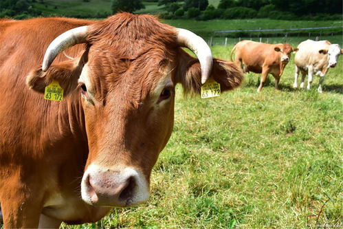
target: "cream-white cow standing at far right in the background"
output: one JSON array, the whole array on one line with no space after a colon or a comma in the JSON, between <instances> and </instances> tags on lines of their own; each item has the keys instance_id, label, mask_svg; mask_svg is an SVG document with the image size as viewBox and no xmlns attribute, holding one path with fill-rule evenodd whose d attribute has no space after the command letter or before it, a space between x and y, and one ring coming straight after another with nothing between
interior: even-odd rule
<instances>
[{"instance_id":1,"label":"cream-white cow standing at far right in the background","mask_svg":"<svg viewBox=\"0 0 343 229\"><path fill-rule=\"evenodd\" d=\"M307 89L310 89L313 80L313 74L320 76L318 92L322 93L322 83L324 76L329 71L330 67L337 65L338 57L343 54L340 45L331 44L329 41L302 41L298 45L298 52L294 57L296 63L296 73L294 74L294 85L298 87L298 76L301 72L300 87L304 87L305 77L308 74Z\"/></svg>"}]
</instances>

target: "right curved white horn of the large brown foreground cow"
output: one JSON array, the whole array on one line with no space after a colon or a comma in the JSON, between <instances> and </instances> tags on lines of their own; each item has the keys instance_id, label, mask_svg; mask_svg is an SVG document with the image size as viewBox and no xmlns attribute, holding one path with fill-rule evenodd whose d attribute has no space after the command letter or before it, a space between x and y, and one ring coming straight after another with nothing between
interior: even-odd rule
<instances>
[{"instance_id":1,"label":"right curved white horn of the large brown foreground cow","mask_svg":"<svg viewBox=\"0 0 343 229\"><path fill-rule=\"evenodd\" d=\"M188 47L197 55L201 66L201 83L206 83L210 77L213 63L212 52L206 41L189 30L177 28L177 43Z\"/></svg>"}]
</instances>

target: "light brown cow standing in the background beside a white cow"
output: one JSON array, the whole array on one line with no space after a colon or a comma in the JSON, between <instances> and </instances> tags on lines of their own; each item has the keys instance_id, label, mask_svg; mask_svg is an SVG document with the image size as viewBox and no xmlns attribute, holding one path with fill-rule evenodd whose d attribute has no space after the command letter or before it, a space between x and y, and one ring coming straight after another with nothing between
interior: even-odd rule
<instances>
[{"instance_id":1,"label":"light brown cow standing in the background beside a white cow","mask_svg":"<svg viewBox=\"0 0 343 229\"><path fill-rule=\"evenodd\" d=\"M231 61L232 53L235 52L235 63L241 66L243 72L262 73L257 91L262 90L269 73L274 76L275 88L278 89L280 77L291 58L291 52L296 50L289 44L270 45L255 41L240 41L231 51Z\"/></svg>"}]
</instances>

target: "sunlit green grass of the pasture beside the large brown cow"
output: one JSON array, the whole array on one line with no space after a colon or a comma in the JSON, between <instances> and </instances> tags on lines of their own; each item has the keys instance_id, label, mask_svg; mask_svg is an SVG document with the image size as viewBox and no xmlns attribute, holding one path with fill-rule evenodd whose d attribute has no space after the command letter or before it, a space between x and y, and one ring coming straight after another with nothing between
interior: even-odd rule
<instances>
[{"instance_id":1,"label":"sunlit green grass of the pasture beside the large brown cow","mask_svg":"<svg viewBox=\"0 0 343 229\"><path fill-rule=\"evenodd\" d=\"M231 47L213 47L225 58ZM151 175L147 204L81 228L317 228L342 226L342 70L324 93L293 89L294 64L274 89L259 74L217 98L184 98ZM311 216L312 217L309 217ZM65 226L63 228L78 228Z\"/></svg>"}]
</instances>

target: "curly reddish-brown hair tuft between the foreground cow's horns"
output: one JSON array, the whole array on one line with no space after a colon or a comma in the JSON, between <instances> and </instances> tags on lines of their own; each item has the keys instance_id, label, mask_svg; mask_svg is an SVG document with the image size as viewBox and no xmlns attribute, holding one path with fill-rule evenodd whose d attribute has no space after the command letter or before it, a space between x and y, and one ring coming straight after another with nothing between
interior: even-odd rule
<instances>
[{"instance_id":1,"label":"curly reddish-brown hair tuft between the foreground cow's horns","mask_svg":"<svg viewBox=\"0 0 343 229\"><path fill-rule=\"evenodd\" d=\"M91 25L88 40L102 47L121 45L122 50L133 52L144 43L176 47L176 36L175 29L157 17L123 12Z\"/></svg>"}]
</instances>

